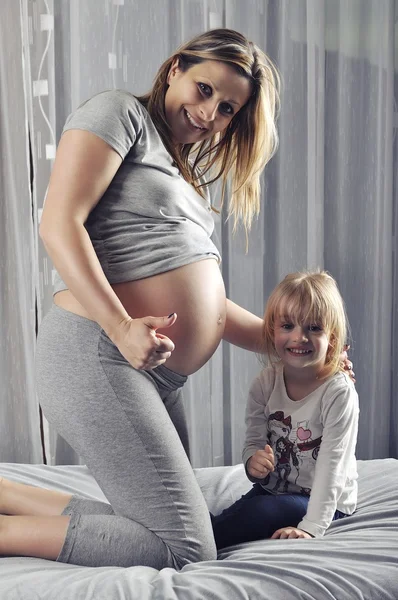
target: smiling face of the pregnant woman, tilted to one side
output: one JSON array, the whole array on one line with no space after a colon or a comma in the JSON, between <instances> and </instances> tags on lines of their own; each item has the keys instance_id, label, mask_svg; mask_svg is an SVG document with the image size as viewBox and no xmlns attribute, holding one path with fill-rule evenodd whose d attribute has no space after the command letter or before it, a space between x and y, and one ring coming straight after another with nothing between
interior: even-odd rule
<instances>
[{"instance_id":1,"label":"smiling face of the pregnant woman, tilted to one side","mask_svg":"<svg viewBox=\"0 0 398 600\"><path fill-rule=\"evenodd\" d=\"M226 63L206 60L169 71L166 119L176 144L202 142L223 131L251 94L251 83Z\"/></svg>"}]
</instances>

